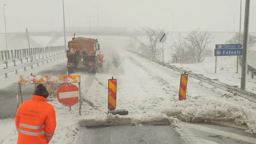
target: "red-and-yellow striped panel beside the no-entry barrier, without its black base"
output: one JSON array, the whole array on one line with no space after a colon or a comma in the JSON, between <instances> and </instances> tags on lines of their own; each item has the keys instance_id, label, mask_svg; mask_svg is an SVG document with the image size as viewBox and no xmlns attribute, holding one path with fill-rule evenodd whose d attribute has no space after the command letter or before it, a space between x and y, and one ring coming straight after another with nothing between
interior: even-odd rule
<instances>
[{"instance_id":1,"label":"red-and-yellow striped panel beside the no-entry barrier, without its black base","mask_svg":"<svg viewBox=\"0 0 256 144\"><path fill-rule=\"evenodd\" d=\"M108 80L108 109L116 109L117 100L117 79Z\"/></svg>"}]
</instances>

